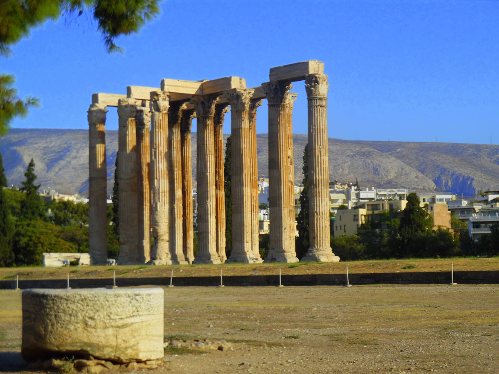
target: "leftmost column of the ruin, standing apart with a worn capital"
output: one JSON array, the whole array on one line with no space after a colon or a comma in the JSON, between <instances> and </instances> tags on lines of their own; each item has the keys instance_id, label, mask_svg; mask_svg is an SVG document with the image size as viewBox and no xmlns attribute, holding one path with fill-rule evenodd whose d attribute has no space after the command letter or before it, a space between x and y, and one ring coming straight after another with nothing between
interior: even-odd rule
<instances>
[{"instance_id":1,"label":"leftmost column of the ruin, standing apart with a worn capital","mask_svg":"<svg viewBox=\"0 0 499 374\"><path fill-rule=\"evenodd\" d=\"M107 259L107 170L105 104L91 104L88 109L88 248L92 265Z\"/></svg>"}]
</instances>

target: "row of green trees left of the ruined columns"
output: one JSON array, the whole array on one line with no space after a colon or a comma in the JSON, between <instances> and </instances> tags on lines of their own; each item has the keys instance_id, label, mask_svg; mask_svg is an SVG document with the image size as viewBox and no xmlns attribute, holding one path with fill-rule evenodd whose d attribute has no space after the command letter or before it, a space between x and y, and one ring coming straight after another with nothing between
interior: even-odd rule
<instances>
[{"instance_id":1,"label":"row of green trees left of the ruined columns","mask_svg":"<svg viewBox=\"0 0 499 374\"><path fill-rule=\"evenodd\" d=\"M88 252L88 205L44 202L34 161L19 189L7 185L0 154L0 267L41 265L43 252Z\"/></svg>"}]
</instances>

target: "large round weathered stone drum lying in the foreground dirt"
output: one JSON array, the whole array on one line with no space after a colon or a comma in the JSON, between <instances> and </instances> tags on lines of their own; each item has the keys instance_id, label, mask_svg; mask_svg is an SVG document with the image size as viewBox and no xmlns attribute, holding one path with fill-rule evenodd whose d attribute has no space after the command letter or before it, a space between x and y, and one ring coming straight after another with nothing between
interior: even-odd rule
<instances>
[{"instance_id":1,"label":"large round weathered stone drum lying in the foreground dirt","mask_svg":"<svg viewBox=\"0 0 499 374\"><path fill-rule=\"evenodd\" d=\"M22 357L91 355L118 363L162 359L163 310L161 288L25 290Z\"/></svg>"}]
</instances>

